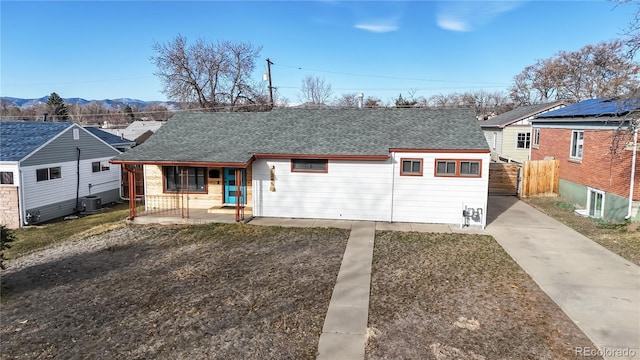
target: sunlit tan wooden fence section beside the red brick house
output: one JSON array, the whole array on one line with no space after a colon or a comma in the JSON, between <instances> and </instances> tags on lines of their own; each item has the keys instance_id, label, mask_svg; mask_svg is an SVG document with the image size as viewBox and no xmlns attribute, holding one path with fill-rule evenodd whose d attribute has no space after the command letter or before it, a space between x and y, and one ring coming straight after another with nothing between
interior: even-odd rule
<instances>
[{"instance_id":1,"label":"sunlit tan wooden fence section beside the red brick house","mask_svg":"<svg viewBox=\"0 0 640 360\"><path fill-rule=\"evenodd\" d=\"M560 182L559 169L559 160L525 161L522 164L520 196L557 194Z\"/></svg>"}]
</instances>

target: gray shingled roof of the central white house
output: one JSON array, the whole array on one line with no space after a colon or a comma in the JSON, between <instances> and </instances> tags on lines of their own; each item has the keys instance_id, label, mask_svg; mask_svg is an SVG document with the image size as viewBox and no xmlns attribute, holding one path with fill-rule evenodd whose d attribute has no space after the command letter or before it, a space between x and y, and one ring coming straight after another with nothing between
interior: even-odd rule
<instances>
[{"instance_id":1,"label":"gray shingled roof of the central white house","mask_svg":"<svg viewBox=\"0 0 640 360\"><path fill-rule=\"evenodd\" d=\"M471 109L275 109L178 113L115 161L246 163L253 154L389 155L489 150Z\"/></svg>"}]
</instances>

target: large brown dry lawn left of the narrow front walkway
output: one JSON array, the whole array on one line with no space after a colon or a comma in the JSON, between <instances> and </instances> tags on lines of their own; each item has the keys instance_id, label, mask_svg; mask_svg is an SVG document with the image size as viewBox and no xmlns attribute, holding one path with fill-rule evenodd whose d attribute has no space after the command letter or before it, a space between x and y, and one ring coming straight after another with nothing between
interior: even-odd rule
<instances>
[{"instance_id":1,"label":"large brown dry lawn left of the narrow front walkway","mask_svg":"<svg viewBox=\"0 0 640 360\"><path fill-rule=\"evenodd\" d=\"M8 262L2 359L313 359L348 230L128 226Z\"/></svg>"}]
</instances>

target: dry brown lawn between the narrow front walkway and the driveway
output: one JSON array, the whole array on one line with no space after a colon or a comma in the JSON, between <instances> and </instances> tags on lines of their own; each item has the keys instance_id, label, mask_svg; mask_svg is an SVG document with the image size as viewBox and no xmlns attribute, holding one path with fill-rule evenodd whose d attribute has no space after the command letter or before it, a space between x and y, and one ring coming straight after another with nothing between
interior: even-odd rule
<instances>
[{"instance_id":1,"label":"dry brown lawn between the narrow front walkway and the driveway","mask_svg":"<svg viewBox=\"0 0 640 360\"><path fill-rule=\"evenodd\" d=\"M490 236L378 232L368 359L571 359L593 343Z\"/></svg>"}]
</instances>

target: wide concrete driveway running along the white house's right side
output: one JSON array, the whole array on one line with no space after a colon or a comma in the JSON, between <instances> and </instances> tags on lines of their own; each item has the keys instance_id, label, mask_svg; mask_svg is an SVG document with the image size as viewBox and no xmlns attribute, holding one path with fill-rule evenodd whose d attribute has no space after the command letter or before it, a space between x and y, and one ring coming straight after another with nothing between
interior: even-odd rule
<instances>
[{"instance_id":1,"label":"wide concrete driveway running along the white house's right side","mask_svg":"<svg viewBox=\"0 0 640 360\"><path fill-rule=\"evenodd\" d=\"M605 359L640 359L640 267L513 197L490 197L487 217L487 231Z\"/></svg>"}]
</instances>

